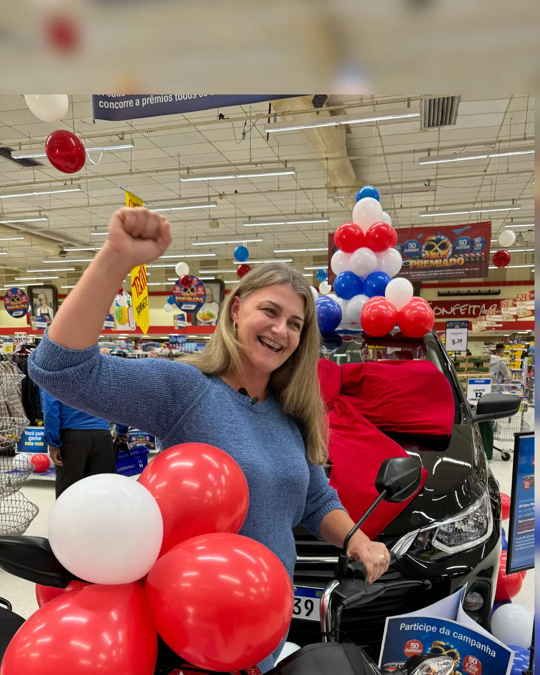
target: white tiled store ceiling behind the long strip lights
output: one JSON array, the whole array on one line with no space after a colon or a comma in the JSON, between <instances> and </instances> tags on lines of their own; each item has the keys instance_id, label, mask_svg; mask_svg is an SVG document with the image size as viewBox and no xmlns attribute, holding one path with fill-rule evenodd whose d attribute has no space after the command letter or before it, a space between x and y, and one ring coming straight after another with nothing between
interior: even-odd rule
<instances>
[{"instance_id":1,"label":"white tiled store ceiling behind the long strip lights","mask_svg":"<svg viewBox=\"0 0 540 675\"><path fill-rule=\"evenodd\" d=\"M418 109L420 96L363 97L333 96L327 105L338 109L338 114L358 111L403 109L410 105ZM59 187L65 182L81 186L81 192L51 194L26 198L0 200L0 219L5 220L47 215L47 222L27 223L28 232L50 238L70 246L99 246L103 238L90 236L91 231L103 231L112 211L124 204L127 188L140 196L148 207L173 205L185 200L216 200L213 209L169 212L173 225L173 244L169 253L215 252L215 258L199 261L190 259L194 273L201 269L232 269L234 246L191 246L196 240L226 240L259 236L263 242L248 244L252 259L277 257L275 248L300 248L325 246L327 233L351 217L347 197L354 197L356 187L340 190L336 196L327 190L328 175L323 155L313 150L302 131L265 134L268 103L227 108L219 111L227 118L217 120L217 111L200 111L187 115L170 115L136 119L127 122L96 121L92 123L89 95L74 95L66 118L57 124L41 122L26 107L22 95L0 96L0 145L18 150L43 149L47 135L55 128L75 130L84 137L86 147L120 142L132 138L135 147L121 151L90 153L86 165L79 173L59 173L46 158L43 167L25 169L0 157L0 193L14 192L22 186L45 190ZM257 115L263 115L257 117ZM315 113L313 113L313 116ZM273 117L273 113L272 113ZM277 121L284 117L277 116ZM286 117L290 119L290 117ZM273 121L273 119L271 119ZM245 124L245 126L244 126ZM246 130L242 139L242 131ZM416 188L429 184L435 192L408 192L383 194L383 209L391 215L395 227L426 224L418 214L425 209L442 210L447 207L479 207L481 205L508 205L514 200L521 210L493 213L493 233L498 235L510 216L520 223L534 221L534 155L518 155L493 159L479 159L443 165L419 165L418 157L453 154L508 146L533 144L534 98L514 95L497 99L462 96L455 126L421 130L419 121L396 124L358 124L350 126L346 134L346 150L352 161L358 184L373 184L381 191ZM32 145L29 144L32 142ZM322 161L321 161L322 159ZM216 180L182 183L179 173L187 168L197 171L212 168L223 171L231 167L254 166L263 163L275 167L284 162L296 168L295 175L260 177L251 179ZM99 162L99 163L98 163ZM264 164L266 163L266 164ZM354 200L353 200L354 201ZM350 202L349 202L350 203ZM273 227L244 227L251 219L308 219L329 217L329 224L274 225ZM434 219L437 225L465 223L489 219L489 214L479 214ZM219 229L210 229L209 219L219 221ZM431 221L431 219L429 219ZM9 236L7 226L0 236ZM526 242L533 244L533 231L522 232ZM9 283L16 269L45 267L47 254L43 248L32 244L26 232L24 241L0 242L9 255L2 257L5 269L0 280ZM15 235L16 236L16 233ZM493 236L492 239L496 237ZM498 244L492 244L495 248ZM514 248L524 248L516 244ZM532 246L531 246L532 248ZM512 249L510 249L512 250ZM525 258L525 255L527 256ZM86 258L91 254L70 254L73 258ZM53 258L49 254L49 259ZM326 254L294 254L298 269L323 263ZM514 264L532 264L531 254L516 253ZM54 267L51 265L51 267ZM76 265L75 273L61 274L59 286L73 284L86 263ZM153 269L151 281L165 280L172 269ZM493 271L491 272L493 274ZM495 280L531 279L530 268L509 268L495 271ZM219 275L234 279L234 274ZM315 281L315 277L313 277ZM165 286L161 290L165 290ZM153 290L160 290L155 288Z\"/></svg>"}]
</instances>

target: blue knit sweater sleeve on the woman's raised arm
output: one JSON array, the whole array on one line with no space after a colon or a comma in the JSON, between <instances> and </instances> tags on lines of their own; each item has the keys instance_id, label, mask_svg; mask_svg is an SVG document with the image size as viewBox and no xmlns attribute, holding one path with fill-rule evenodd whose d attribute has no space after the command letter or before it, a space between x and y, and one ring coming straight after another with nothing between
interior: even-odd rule
<instances>
[{"instance_id":1,"label":"blue knit sweater sleeve on the woman's raised arm","mask_svg":"<svg viewBox=\"0 0 540 675\"><path fill-rule=\"evenodd\" d=\"M163 438L209 387L197 368L165 359L128 359L62 347L47 333L28 358L42 389L96 417Z\"/></svg>"}]
</instances>

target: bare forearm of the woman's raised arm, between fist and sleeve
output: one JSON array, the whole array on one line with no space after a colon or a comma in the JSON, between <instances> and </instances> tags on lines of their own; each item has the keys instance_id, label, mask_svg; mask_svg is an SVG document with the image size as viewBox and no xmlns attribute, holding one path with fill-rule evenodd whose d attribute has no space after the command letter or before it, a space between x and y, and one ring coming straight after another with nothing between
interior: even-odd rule
<instances>
[{"instance_id":1,"label":"bare forearm of the woman's raised arm, between fist and sleeve","mask_svg":"<svg viewBox=\"0 0 540 675\"><path fill-rule=\"evenodd\" d=\"M86 349L96 344L103 321L124 281L126 261L105 246L78 284L62 302L51 327L49 338L68 349Z\"/></svg>"}]
</instances>

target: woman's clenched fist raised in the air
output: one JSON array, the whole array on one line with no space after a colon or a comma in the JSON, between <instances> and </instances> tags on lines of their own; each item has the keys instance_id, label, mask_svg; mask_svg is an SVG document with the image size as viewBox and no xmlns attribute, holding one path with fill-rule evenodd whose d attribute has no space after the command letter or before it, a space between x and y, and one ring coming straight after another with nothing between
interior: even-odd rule
<instances>
[{"instance_id":1,"label":"woman's clenched fist raised in the air","mask_svg":"<svg viewBox=\"0 0 540 675\"><path fill-rule=\"evenodd\" d=\"M164 216L148 209L125 207L113 213L104 248L119 254L132 269L159 258L170 243L171 225Z\"/></svg>"}]
</instances>

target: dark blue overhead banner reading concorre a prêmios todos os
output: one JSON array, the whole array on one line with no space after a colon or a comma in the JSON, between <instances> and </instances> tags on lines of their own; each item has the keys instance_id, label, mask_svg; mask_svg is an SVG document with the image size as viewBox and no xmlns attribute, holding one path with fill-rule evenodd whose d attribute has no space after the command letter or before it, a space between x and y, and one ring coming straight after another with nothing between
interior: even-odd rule
<instances>
[{"instance_id":1,"label":"dark blue overhead banner reading concorre a pr\u00eamios todos os","mask_svg":"<svg viewBox=\"0 0 540 675\"><path fill-rule=\"evenodd\" d=\"M275 99L289 99L298 94L92 94L95 119L121 121L142 117L162 117L192 113L197 110L249 105Z\"/></svg>"}]
</instances>

